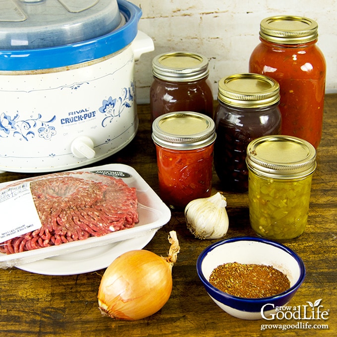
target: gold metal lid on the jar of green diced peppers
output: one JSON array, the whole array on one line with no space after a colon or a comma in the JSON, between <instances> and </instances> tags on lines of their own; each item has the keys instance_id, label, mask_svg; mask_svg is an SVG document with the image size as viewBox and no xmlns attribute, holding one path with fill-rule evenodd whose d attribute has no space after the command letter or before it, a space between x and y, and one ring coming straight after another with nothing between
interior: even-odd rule
<instances>
[{"instance_id":1,"label":"gold metal lid on the jar of green diced peppers","mask_svg":"<svg viewBox=\"0 0 337 337\"><path fill-rule=\"evenodd\" d=\"M276 179L304 178L316 169L316 150L309 142L292 136L264 136L247 147L248 169Z\"/></svg>"}]
</instances>

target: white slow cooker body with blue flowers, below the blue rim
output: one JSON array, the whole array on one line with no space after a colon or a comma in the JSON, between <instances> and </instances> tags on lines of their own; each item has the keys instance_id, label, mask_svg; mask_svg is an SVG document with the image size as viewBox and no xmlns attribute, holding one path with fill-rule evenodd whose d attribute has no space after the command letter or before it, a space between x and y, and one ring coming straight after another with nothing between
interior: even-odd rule
<instances>
[{"instance_id":1,"label":"white slow cooker body with blue flowers, below the blue rim","mask_svg":"<svg viewBox=\"0 0 337 337\"><path fill-rule=\"evenodd\" d=\"M130 46L99 62L52 70L1 72L1 170L73 169L116 153L134 138L138 117ZM94 152L85 157L85 149L83 155L73 151L75 156L71 145L83 137L92 141Z\"/></svg>"}]
</instances>

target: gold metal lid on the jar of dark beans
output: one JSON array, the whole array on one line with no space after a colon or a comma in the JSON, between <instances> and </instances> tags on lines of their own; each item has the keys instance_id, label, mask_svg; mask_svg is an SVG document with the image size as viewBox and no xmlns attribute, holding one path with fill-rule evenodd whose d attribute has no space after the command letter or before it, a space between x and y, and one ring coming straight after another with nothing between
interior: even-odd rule
<instances>
[{"instance_id":1,"label":"gold metal lid on the jar of dark beans","mask_svg":"<svg viewBox=\"0 0 337 337\"><path fill-rule=\"evenodd\" d=\"M218 84L218 99L240 108L267 107L280 101L280 85L273 78L254 73L224 77Z\"/></svg>"}]
</instances>

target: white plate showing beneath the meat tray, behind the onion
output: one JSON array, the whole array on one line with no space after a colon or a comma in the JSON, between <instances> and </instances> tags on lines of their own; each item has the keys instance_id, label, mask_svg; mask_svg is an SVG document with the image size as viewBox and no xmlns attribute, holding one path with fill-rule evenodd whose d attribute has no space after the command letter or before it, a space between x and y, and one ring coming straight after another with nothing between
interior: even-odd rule
<instances>
[{"instance_id":1,"label":"white plate showing beneath the meat tray, behind the onion","mask_svg":"<svg viewBox=\"0 0 337 337\"><path fill-rule=\"evenodd\" d=\"M107 268L119 255L133 249L144 248L154 237L156 230L140 237L107 244L102 247L81 250L72 255L59 255L44 260L16 266L26 272L42 275L76 275Z\"/></svg>"}]
</instances>

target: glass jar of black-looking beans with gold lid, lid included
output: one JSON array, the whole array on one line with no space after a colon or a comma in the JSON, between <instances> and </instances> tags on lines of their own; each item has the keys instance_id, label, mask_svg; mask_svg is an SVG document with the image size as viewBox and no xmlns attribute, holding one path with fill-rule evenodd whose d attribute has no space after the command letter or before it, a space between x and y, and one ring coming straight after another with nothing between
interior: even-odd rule
<instances>
[{"instance_id":1,"label":"glass jar of black-looking beans with gold lid, lid included","mask_svg":"<svg viewBox=\"0 0 337 337\"><path fill-rule=\"evenodd\" d=\"M215 170L225 189L246 192L247 145L255 138L280 133L280 86L260 74L231 75L219 81L218 101Z\"/></svg>"}]
</instances>

